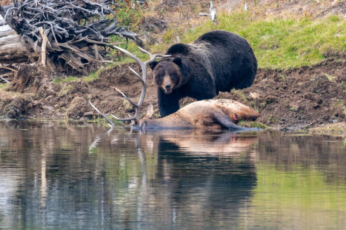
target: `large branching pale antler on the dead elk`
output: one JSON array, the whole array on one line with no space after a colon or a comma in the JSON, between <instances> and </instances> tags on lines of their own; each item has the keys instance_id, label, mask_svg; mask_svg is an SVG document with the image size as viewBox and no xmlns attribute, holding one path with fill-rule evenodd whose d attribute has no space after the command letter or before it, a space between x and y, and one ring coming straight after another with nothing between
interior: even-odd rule
<instances>
[{"instance_id":1,"label":"large branching pale antler on the dead elk","mask_svg":"<svg viewBox=\"0 0 346 230\"><path fill-rule=\"evenodd\" d=\"M124 93L121 92L121 90L119 90L117 87L114 87L114 89L117 90L117 92L119 92L121 95L123 95L123 97L125 97L125 99L127 99L133 105L133 107L135 107L136 112L135 112L134 116L130 116L130 117L125 118L125 119L119 119L119 118L117 118L117 116L114 116L114 115L112 115L112 116L119 121L133 121L133 120L141 118L141 107L142 107L142 104L143 104L144 99L145 99L145 93L147 91L147 66L148 66L148 63L155 61L155 59L157 59L158 57L166 57L166 56L170 56L170 55L150 54L150 52L146 51L145 49L138 47L139 49L141 49L142 52L144 52L145 54L148 54L150 56L150 59L148 61L142 61L141 59L138 59L137 56L134 56L133 54L128 52L126 49L122 49L121 47L117 47L117 46L113 46L113 47L115 49L119 49L121 52L124 52L124 54L126 54L127 56L130 56L132 59L137 61L139 63L139 65L141 66L141 69L142 69L142 76L141 76L129 66L130 70L133 73L135 73L135 75L138 77L138 79L142 83L142 92L141 92L141 97L139 98L138 104L134 103L131 99L129 99L129 97L126 97L126 95L124 95ZM90 104L91 104L91 102L90 102ZM91 104L91 105L94 107L94 109L96 109L96 107L93 104ZM102 114L98 109L96 109L96 111L99 112L102 116L104 116L107 119L107 121L110 123L109 125L112 126L112 128L114 128L114 123L112 123L112 121L110 121L107 118L107 116L105 116L105 114Z\"/></svg>"}]
</instances>

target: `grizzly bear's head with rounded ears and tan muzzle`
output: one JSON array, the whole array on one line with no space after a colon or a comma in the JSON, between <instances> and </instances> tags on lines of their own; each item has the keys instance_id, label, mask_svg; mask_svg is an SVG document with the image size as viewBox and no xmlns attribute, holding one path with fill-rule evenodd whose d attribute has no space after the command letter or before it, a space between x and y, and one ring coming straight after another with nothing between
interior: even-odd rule
<instances>
[{"instance_id":1,"label":"grizzly bear's head with rounded ears and tan muzzle","mask_svg":"<svg viewBox=\"0 0 346 230\"><path fill-rule=\"evenodd\" d=\"M153 78L158 87L169 95L181 85L181 57L162 59L149 64L153 69Z\"/></svg>"}]
</instances>

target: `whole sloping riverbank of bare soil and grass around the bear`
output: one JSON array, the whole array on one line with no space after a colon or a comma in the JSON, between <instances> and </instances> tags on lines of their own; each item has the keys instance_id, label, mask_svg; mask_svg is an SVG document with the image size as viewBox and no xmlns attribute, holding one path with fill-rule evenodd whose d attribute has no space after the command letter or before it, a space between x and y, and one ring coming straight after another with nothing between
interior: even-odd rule
<instances>
[{"instance_id":1,"label":"whole sloping riverbank of bare soil and grass around the bear","mask_svg":"<svg viewBox=\"0 0 346 230\"><path fill-rule=\"evenodd\" d=\"M309 6L314 9L314 1L311 2ZM196 16L206 5L196 5L197 8L186 11L186 15L174 18L177 9L191 3L183 1L183 5L177 6L167 3L162 6L152 3L143 13L141 31L150 52L162 54L177 39L191 42L213 29L236 32L249 41L260 68L251 87L222 92L218 98L236 99L253 107L260 113L258 122L272 129L316 130L335 126L338 131L346 131L346 23L342 16L304 13L309 11L282 16L292 5L281 10L271 5L258 6L244 13L239 4L232 13L220 13L217 22L211 23ZM339 5L333 5L334 9ZM160 13L162 8L165 15ZM161 20L153 20L155 17ZM188 19L173 30L179 17ZM150 43L148 36L155 42ZM134 44L129 44L129 50L142 59L147 58ZM7 119L95 119L97 113L88 104L90 100L105 114L127 116L134 109L114 87L131 99L138 99L141 83L128 66L138 70L136 63L126 57L83 78L56 77L42 69L26 70L28 79L24 87L18 87L16 79L11 85L0 84L0 115ZM192 101L183 99L181 106ZM155 116L160 117L152 79L148 80L143 107L148 104L154 105Z\"/></svg>"}]
</instances>

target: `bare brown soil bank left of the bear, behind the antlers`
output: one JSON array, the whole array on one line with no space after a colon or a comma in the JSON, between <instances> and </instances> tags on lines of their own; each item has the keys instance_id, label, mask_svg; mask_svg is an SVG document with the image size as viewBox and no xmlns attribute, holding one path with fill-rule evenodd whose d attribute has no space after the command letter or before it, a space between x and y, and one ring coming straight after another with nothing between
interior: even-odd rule
<instances>
[{"instance_id":1,"label":"bare brown soil bank left of the bear, behind the antlers","mask_svg":"<svg viewBox=\"0 0 346 230\"><path fill-rule=\"evenodd\" d=\"M117 66L104 71L100 79L86 83L83 80L72 81L67 83L54 84L52 80L43 78L44 83L36 90L37 106L29 109L18 116L23 118L37 119L88 119L97 115L88 100L93 102L95 106L105 114L114 114L116 116L127 116L134 109L131 104L124 100L124 97L114 90L114 86L121 89L128 97L137 101L141 95L141 83L135 75L131 73L129 64ZM130 64L136 71L138 66L135 63ZM156 105L156 87L148 80L147 97L144 107L149 103L155 102ZM11 90L11 88L10 88ZM32 87L28 87L26 92L31 92ZM11 92L8 92L10 94ZM4 100L3 100L4 101ZM8 104L10 101L3 102ZM145 109L143 109L145 111ZM1 115L7 118L9 116L6 111L0 111Z\"/></svg>"}]
</instances>

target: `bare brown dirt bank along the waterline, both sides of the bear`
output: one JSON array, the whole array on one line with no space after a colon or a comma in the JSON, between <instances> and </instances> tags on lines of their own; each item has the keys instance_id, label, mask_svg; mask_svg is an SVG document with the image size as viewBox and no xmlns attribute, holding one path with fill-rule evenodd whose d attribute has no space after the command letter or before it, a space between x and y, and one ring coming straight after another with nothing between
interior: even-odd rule
<instances>
[{"instance_id":1,"label":"bare brown dirt bank along the waterline, both sides of the bear","mask_svg":"<svg viewBox=\"0 0 346 230\"><path fill-rule=\"evenodd\" d=\"M90 100L105 114L127 116L134 110L114 90L114 86L134 101L141 94L141 83L127 66L104 71L99 79L89 83L77 80L54 84L45 78L35 93L32 87L27 87L23 95L0 90L1 115L28 119L93 119L97 113L88 104ZM131 67L138 71L135 63ZM346 61L340 60L287 71L260 69L251 87L221 92L218 98L236 99L257 109L260 113L258 121L270 128L316 128L346 121L345 72ZM181 106L192 101L183 99ZM144 108L150 103L154 105L155 116L158 117L156 87L151 78L148 79Z\"/></svg>"}]
</instances>

